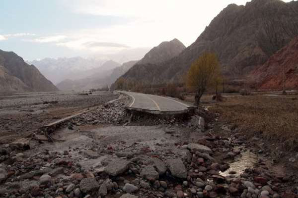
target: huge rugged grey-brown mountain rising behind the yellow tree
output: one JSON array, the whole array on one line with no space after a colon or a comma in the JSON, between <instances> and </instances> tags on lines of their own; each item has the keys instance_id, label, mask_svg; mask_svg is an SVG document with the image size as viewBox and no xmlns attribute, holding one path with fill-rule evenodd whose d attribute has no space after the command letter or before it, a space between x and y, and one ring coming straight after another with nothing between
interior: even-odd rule
<instances>
[{"instance_id":1,"label":"huge rugged grey-brown mountain rising behind the yellow tree","mask_svg":"<svg viewBox=\"0 0 298 198\"><path fill-rule=\"evenodd\" d=\"M224 76L239 78L264 64L298 35L298 1L252 0L230 4L198 39L179 55L159 63L136 64L123 78L159 84L182 81L191 63L203 52L217 53Z\"/></svg>"}]
</instances>

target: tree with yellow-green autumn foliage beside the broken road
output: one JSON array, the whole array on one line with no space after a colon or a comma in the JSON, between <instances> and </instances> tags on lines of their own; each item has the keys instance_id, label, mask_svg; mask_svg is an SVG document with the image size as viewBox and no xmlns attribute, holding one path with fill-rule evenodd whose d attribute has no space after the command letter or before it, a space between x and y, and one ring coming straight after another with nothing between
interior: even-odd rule
<instances>
[{"instance_id":1,"label":"tree with yellow-green autumn foliage beside the broken road","mask_svg":"<svg viewBox=\"0 0 298 198\"><path fill-rule=\"evenodd\" d=\"M199 105L207 86L218 86L220 79L220 63L215 53L205 52L191 64L187 73L186 85L196 92L196 105Z\"/></svg>"}]
</instances>

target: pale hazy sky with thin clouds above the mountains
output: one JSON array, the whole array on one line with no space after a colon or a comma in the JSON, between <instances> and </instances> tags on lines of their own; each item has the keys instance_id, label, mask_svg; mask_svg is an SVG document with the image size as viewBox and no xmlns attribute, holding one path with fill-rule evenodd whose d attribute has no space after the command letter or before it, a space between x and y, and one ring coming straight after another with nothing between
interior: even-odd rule
<instances>
[{"instance_id":1,"label":"pale hazy sky with thin clouds above the mountains","mask_svg":"<svg viewBox=\"0 0 298 198\"><path fill-rule=\"evenodd\" d=\"M192 44L230 3L247 0L1 0L0 49L24 59ZM291 1L291 0L284 0Z\"/></svg>"}]
</instances>

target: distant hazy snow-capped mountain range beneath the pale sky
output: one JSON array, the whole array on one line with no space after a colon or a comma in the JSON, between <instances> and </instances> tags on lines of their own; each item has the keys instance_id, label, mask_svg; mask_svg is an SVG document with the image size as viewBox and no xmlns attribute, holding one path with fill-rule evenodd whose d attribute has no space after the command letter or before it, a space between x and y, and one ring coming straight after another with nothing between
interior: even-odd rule
<instances>
[{"instance_id":1,"label":"distant hazy snow-capped mountain range beneath the pale sky","mask_svg":"<svg viewBox=\"0 0 298 198\"><path fill-rule=\"evenodd\" d=\"M107 61L98 58L61 57L44 58L28 62L34 64L53 83L59 83L65 79L80 79L93 74L92 69L99 68Z\"/></svg>"}]
</instances>

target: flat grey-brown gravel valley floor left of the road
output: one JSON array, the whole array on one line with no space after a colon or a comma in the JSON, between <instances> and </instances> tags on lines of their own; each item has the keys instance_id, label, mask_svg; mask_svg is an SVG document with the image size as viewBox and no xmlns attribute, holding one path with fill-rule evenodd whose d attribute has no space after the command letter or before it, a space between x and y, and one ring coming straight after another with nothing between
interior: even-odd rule
<instances>
[{"instance_id":1,"label":"flat grey-brown gravel valley floor left of the road","mask_svg":"<svg viewBox=\"0 0 298 198\"><path fill-rule=\"evenodd\" d=\"M0 144L26 137L43 125L116 98L109 92L0 94Z\"/></svg>"}]
</instances>

